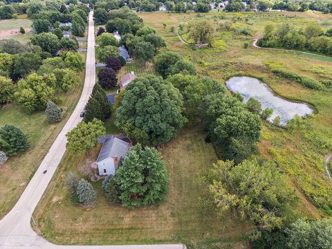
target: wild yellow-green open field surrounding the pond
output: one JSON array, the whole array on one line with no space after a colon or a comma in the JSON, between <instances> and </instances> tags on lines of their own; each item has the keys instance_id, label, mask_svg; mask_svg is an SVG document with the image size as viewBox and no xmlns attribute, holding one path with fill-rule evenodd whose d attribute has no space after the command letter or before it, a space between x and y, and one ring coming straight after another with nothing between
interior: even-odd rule
<instances>
[{"instance_id":1,"label":"wild yellow-green open field surrounding the pond","mask_svg":"<svg viewBox=\"0 0 332 249\"><path fill-rule=\"evenodd\" d=\"M280 67L300 75L323 80L331 78L331 60L320 55L308 55L300 52L270 51L253 46L245 49L243 42L251 43L250 36L239 35L233 30L220 31L214 35L215 39L221 37L226 46L225 50L218 47L196 49L193 46L180 43L176 33L172 33L169 27L205 18L211 19L215 27L220 26L225 21L230 21L233 28L248 28L252 30L253 37L259 37L264 26L271 22L276 24L288 23L302 28L309 23L322 24L324 21L329 21L331 15L315 15L313 12L212 12L201 16L203 17L197 17L194 13L172 15L146 13L140 15L145 24L156 28L157 32L166 39L169 48L181 53L183 57L196 65L199 75L209 75L221 82L225 82L232 75L259 77L279 95L291 100L308 102L317 109L315 115L307 118L303 124L292 130L275 128L265 123L259 148L262 156L274 158L288 173L290 182L297 187L298 193L304 201L303 212L308 212L314 216L322 215L322 212L316 210L307 198L319 206L320 210L330 212L331 208L326 204L332 198L329 191L332 184L324 173L322 158L332 147L331 93L304 89L299 84L276 77L270 73L266 64L278 64ZM236 21L232 21L233 19ZM252 25L248 24L248 20L251 20L250 24ZM163 23L167 24L165 30ZM323 28L329 28L329 26L323 26Z\"/></svg>"}]
</instances>

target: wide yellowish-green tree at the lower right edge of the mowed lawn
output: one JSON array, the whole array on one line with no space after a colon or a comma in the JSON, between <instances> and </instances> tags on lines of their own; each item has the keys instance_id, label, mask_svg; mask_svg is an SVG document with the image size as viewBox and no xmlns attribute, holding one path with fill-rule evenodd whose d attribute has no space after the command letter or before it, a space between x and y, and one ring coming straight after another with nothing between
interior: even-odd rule
<instances>
[{"instance_id":1,"label":"wide yellowish-green tree at the lower right edge of the mowed lawn","mask_svg":"<svg viewBox=\"0 0 332 249\"><path fill-rule=\"evenodd\" d=\"M244 160L234 165L233 161L219 160L206 180L219 215L233 211L267 230L280 228L286 216L292 215L297 200L271 161Z\"/></svg>"}]
</instances>

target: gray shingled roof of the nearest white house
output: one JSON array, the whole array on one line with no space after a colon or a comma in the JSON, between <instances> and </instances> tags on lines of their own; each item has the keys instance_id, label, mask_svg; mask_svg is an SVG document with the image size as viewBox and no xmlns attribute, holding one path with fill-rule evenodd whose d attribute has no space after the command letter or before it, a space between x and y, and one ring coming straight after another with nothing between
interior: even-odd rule
<instances>
[{"instance_id":1,"label":"gray shingled roof of the nearest white house","mask_svg":"<svg viewBox=\"0 0 332 249\"><path fill-rule=\"evenodd\" d=\"M102 145L97 163L106 158L113 158L114 156L118 156L118 158L124 158L127 154L127 151L129 151L129 143L112 136L111 138L107 138Z\"/></svg>"}]
</instances>

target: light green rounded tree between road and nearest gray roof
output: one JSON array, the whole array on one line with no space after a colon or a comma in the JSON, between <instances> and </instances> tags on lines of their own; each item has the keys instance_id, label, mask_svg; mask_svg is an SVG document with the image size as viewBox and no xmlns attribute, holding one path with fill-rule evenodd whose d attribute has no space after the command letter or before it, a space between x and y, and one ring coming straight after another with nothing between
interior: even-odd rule
<instances>
[{"instance_id":1,"label":"light green rounded tree between road and nearest gray roof","mask_svg":"<svg viewBox=\"0 0 332 249\"><path fill-rule=\"evenodd\" d=\"M98 138L106 134L102 121L94 118L91 122L80 122L77 127L66 134L67 149L73 154L88 154L89 149L95 147Z\"/></svg>"}]
</instances>

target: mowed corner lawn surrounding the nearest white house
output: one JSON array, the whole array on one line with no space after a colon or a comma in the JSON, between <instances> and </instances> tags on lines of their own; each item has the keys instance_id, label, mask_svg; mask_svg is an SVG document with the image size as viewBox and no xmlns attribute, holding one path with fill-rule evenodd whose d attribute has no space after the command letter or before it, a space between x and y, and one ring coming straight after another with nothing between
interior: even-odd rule
<instances>
[{"instance_id":1,"label":"mowed corner lawn surrounding the nearest white house","mask_svg":"<svg viewBox=\"0 0 332 249\"><path fill-rule=\"evenodd\" d=\"M93 183L98 201L86 210L71 202L64 185L69 171L77 172L85 156L64 156L46 194L35 211L37 230L59 244L141 244L220 242L246 248L243 234L249 225L231 218L219 220L212 210L197 205L206 195L202 174L216 162L211 144L197 128L185 128L162 150L169 172L169 194L160 205L129 210L109 205ZM99 148L91 153L98 156Z\"/></svg>"}]
</instances>

